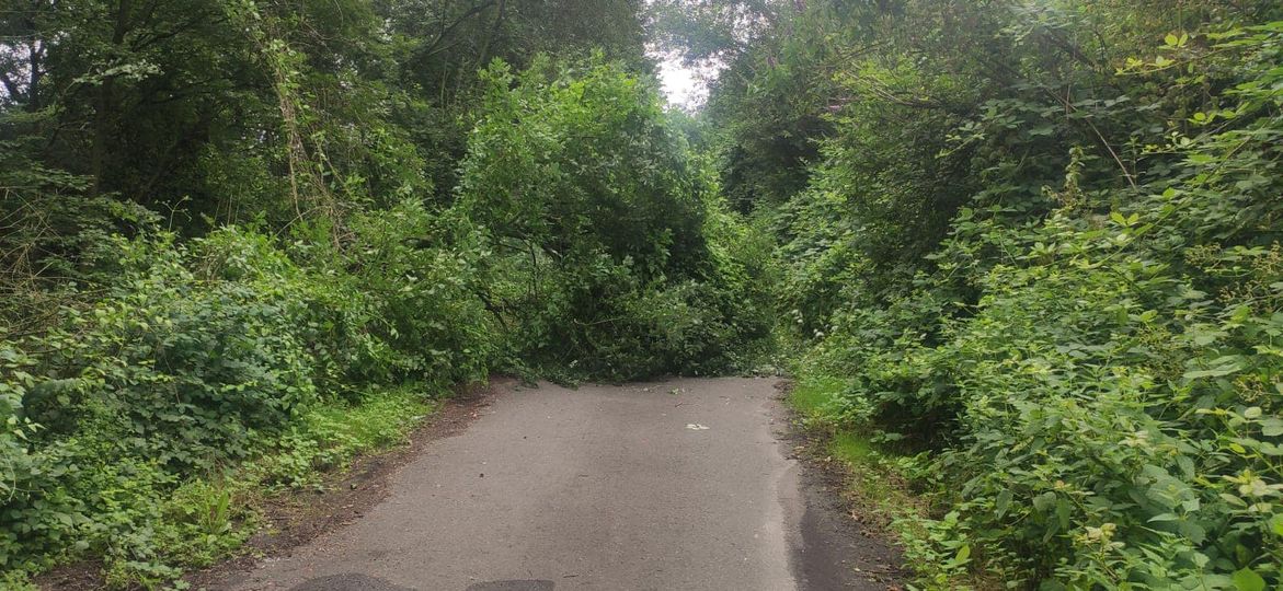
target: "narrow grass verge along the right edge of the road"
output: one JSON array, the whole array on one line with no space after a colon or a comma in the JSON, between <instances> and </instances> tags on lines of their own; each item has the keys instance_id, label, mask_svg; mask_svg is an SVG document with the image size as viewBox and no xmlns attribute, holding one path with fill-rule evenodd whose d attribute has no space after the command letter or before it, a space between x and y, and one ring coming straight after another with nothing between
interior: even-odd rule
<instances>
[{"instance_id":1,"label":"narrow grass verge along the right edge of the road","mask_svg":"<svg viewBox=\"0 0 1283 591\"><path fill-rule=\"evenodd\" d=\"M806 376L794 382L789 404L798 412L803 428L819 437L820 454L837 462L845 473L843 497L865 526L896 541L905 551L905 567L915 581L911 590L992 590L1001 588L984 573L971 573L970 547L952 555L933 550L939 532L928 527L928 518L939 509L934 503L921 455L903 454L874 441L858 428L837 418L834 400L848 382L828 376Z\"/></svg>"}]
</instances>

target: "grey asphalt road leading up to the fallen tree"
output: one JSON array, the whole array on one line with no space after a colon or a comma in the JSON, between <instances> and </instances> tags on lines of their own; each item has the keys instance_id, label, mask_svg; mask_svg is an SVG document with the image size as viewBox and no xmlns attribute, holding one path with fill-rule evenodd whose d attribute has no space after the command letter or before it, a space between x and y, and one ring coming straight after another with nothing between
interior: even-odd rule
<instances>
[{"instance_id":1,"label":"grey asphalt road leading up to the fallen tree","mask_svg":"<svg viewBox=\"0 0 1283 591\"><path fill-rule=\"evenodd\" d=\"M775 385L500 388L361 519L216 587L888 588L893 554L790 458Z\"/></svg>"}]
</instances>

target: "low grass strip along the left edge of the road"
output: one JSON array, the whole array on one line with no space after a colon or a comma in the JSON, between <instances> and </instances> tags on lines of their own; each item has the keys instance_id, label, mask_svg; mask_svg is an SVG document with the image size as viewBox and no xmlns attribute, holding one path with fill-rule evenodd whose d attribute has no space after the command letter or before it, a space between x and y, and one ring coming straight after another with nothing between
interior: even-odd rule
<instances>
[{"instance_id":1,"label":"low grass strip along the left edge of the road","mask_svg":"<svg viewBox=\"0 0 1283 591\"><path fill-rule=\"evenodd\" d=\"M258 456L174 487L135 491L154 510L131 515L123 536L101 556L108 588L186 588L185 569L209 567L245 551L263 526L266 503L300 490L323 490L362 455L407 444L409 433L441 408L417 383L372 388L352 401L330 401L299 417L294 428ZM139 551L139 549L149 549ZM92 555L83 556L96 560ZM64 563L77 556L65 556ZM24 587L24 585L27 587ZM0 588L28 590L24 576L0 577Z\"/></svg>"}]
</instances>

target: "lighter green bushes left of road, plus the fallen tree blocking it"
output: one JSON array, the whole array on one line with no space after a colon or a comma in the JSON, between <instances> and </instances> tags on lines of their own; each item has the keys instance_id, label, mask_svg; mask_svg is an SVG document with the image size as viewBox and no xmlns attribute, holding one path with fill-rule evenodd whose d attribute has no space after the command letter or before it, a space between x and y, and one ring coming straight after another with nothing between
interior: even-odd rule
<instances>
[{"instance_id":1,"label":"lighter green bushes left of road, plus the fallen tree blocking it","mask_svg":"<svg viewBox=\"0 0 1283 591\"><path fill-rule=\"evenodd\" d=\"M286 141L285 177L277 156L208 155L249 186L250 224L180 235L112 196L71 206L81 177L0 171L59 181L5 188L21 206L0 285L32 301L0 318L0 567L103 558L114 586L162 585L237 546L255 491L395 441L491 370L753 363L771 245L724 209L653 82L600 55L521 74L497 60L484 79L450 199L429 192L404 129L375 118L364 145L344 109L282 122L313 129Z\"/></svg>"}]
</instances>

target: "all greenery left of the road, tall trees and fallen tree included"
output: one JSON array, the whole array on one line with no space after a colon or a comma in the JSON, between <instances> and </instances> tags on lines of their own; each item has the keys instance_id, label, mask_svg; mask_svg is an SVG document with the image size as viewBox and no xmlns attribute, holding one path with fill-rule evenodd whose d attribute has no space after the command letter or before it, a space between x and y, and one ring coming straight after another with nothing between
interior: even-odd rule
<instances>
[{"instance_id":1,"label":"all greenery left of the road, tall trees and fallen tree included","mask_svg":"<svg viewBox=\"0 0 1283 591\"><path fill-rule=\"evenodd\" d=\"M0 23L4 585L168 586L457 385L733 370L771 332L771 245L661 108L633 1Z\"/></svg>"}]
</instances>

